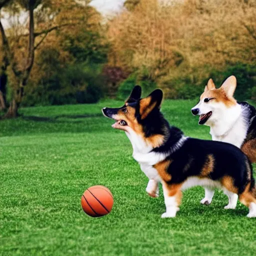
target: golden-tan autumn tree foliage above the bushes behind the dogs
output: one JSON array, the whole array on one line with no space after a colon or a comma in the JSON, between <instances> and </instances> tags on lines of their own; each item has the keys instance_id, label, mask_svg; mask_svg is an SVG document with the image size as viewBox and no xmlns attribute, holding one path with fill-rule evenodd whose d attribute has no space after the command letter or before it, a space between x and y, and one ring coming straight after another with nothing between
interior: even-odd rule
<instances>
[{"instance_id":1,"label":"golden-tan autumn tree foliage above the bushes behind the dogs","mask_svg":"<svg viewBox=\"0 0 256 256\"><path fill-rule=\"evenodd\" d=\"M210 70L256 58L255 0L128 0L108 25L108 64L171 86L199 84ZM128 6L128 5L127 5ZM230 8L232 6L232 8Z\"/></svg>"}]
</instances>

